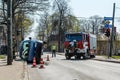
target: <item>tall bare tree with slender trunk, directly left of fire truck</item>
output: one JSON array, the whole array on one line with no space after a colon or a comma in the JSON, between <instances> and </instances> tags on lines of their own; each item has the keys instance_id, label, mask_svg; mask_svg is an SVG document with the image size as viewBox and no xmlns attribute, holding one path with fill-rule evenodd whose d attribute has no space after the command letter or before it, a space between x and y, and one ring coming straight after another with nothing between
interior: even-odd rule
<instances>
[{"instance_id":1,"label":"tall bare tree with slender trunk, directly left of fire truck","mask_svg":"<svg viewBox=\"0 0 120 80\"><path fill-rule=\"evenodd\" d=\"M61 44L61 33L63 33L63 27L64 26L64 18L65 18L65 15L68 14L68 11L69 11L69 7L68 7L68 0L55 0L54 1L54 5L53 5L53 9L58 12L59 14L59 21L58 21L58 51L60 51L60 44Z\"/></svg>"}]
</instances>

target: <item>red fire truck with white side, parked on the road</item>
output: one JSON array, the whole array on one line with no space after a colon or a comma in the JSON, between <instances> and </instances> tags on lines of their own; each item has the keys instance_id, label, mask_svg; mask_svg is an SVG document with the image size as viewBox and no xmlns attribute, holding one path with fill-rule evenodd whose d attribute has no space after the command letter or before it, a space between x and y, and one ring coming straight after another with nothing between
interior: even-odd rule
<instances>
[{"instance_id":1,"label":"red fire truck with white side, parked on the road","mask_svg":"<svg viewBox=\"0 0 120 80\"><path fill-rule=\"evenodd\" d=\"M64 52L66 59L86 59L95 57L97 48L96 35L85 33L85 32L75 32L66 33L64 42Z\"/></svg>"}]
</instances>

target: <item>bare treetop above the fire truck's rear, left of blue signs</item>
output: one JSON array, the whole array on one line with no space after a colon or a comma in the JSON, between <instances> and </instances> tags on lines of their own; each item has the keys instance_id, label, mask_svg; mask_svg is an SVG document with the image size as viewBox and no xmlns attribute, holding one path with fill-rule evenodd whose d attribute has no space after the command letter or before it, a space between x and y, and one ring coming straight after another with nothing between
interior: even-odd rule
<instances>
[{"instance_id":1,"label":"bare treetop above the fire truck's rear, left of blue signs","mask_svg":"<svg viewBox=\"0 0 120 80\"><path fill-rule=\"evenodd\" d=\"M98 34L101 27L103 19L98 15L91 16L90 18L84 18L80 20L81 31L91 32L93 34Z\"/></svg>"}]
</instances>

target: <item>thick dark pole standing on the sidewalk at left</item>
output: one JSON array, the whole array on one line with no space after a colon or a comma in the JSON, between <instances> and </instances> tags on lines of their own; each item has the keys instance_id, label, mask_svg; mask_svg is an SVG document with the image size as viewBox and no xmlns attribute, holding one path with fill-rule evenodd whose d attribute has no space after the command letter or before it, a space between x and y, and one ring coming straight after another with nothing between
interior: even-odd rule
<instances>
[{"instance_id":1,"label":"thick dark pole standing on the sidewalk at left","mask_svg":"<svg viewBox=\"0 0 120 80\"><path fill-rule=\"evenodd\" d=\"M7 0L7 65L12 65L12 0Z\"/></svg>"}]
</instances>

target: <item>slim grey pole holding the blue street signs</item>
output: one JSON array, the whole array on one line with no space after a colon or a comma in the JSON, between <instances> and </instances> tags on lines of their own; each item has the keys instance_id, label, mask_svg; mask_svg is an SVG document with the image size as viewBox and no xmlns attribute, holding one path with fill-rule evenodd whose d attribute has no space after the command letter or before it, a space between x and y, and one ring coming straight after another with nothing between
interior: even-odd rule
<instances>
[{"instance_id":1,"label":"slim grey pole holding the blue street signs","mask_svg":"<svg viewBox=\"0 0 120 80\"><path fill-rule=\"evenodd\" d=\"M114 18L115 18L115 3L113 4L112 33L111 33L110 54L109 54L109 57L112 57L112 52L113 52L113 41L114 41Z\"/></svg>"}]
</instances>

